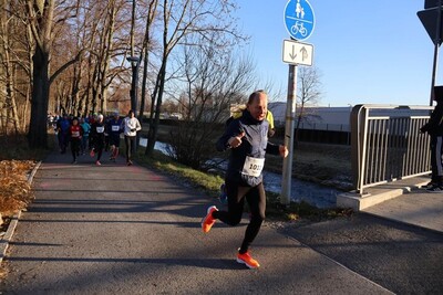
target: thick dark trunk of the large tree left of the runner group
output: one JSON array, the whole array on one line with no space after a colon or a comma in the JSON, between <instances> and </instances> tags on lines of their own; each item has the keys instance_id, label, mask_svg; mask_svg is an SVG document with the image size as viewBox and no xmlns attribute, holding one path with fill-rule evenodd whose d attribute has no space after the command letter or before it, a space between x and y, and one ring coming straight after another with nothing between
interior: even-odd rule
<instances>
[{"instance_id":1,"label":"thick dark trunk of the large tree left of the runner group","mask_svg":"<svg viewBox=\"0 0 443 295\"><path fill-rule=\"evenodd\" d=\"M47 148L47 115L50 85L48 75L49 54L43 52L40 46L37 46L32 63L34 71L28 141L30 148Z\"/></svg>"}]
</instances>

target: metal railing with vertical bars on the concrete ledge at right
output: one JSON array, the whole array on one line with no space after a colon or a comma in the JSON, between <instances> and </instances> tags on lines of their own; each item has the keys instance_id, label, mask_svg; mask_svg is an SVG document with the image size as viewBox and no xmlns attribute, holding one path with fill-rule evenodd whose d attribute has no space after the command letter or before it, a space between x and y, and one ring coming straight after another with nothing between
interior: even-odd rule
<instances>
[{"instance_id":1,"label":"metal railing with vertical bars on the concrete ledge at right","mask_svg":"<svg viewBox=\"0 0 443 295\"><path fill-rule=\"evenodd\" d=\"M377 185L431 172L430 137L420 133L431 106L356 105L352 108L353 187Z\"/></svg>"}]
</instances>

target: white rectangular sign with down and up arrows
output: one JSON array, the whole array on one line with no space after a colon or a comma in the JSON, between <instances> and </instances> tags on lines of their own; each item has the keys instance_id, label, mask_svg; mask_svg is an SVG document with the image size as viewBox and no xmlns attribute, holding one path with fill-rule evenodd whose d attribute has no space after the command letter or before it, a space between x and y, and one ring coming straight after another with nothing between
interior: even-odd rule
<instances>
[{"instance_id":1,"label":"white rectangular sign with down and up arrows","mask_svg":"<svg viewBox=\"0 0 443 295\"><path fill-rule=\"evenodd\" d=\"M312 65L313 45L292 40L284 40L284 62Z\"/></svg>"}]
</instances>

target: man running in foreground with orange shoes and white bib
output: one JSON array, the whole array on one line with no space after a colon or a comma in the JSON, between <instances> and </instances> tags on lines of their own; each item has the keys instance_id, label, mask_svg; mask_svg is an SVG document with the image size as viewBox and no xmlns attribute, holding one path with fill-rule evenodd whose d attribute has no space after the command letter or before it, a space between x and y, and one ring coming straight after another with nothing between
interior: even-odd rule
<instances>
[{"instance_id":1,"label":"man running in foreground with orange shoes and white bib","mask_svg":"<svg viewBox=\"0 0 443 295\"><path fill-rule=\"evenodd\" d=\"M266 194L262 186L265 154L280 154L282 157L288 155L285 146L268 143L269 123L265 120L266 113L266 93L262 91L253 93L243 116L234 119L218 139L218 150L230 149L225 177L228 211L218 211L215 206L212 206L202 222L205 233L209 232L216 219L229 225L237 225L241 221L246 199L250 210L250 222L238 251L237 262L246 264L249 268L260 266L250 256L248 249L265 220Z\"/></svg>"}]
</instances>

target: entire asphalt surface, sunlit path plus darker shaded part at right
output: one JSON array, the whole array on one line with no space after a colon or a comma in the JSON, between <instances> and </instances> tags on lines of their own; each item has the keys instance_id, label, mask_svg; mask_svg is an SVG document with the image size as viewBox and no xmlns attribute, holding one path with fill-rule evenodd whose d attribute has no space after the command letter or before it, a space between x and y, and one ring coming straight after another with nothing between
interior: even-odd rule
<instances>
[{"instance_id":1,"label":"entire asphalt surface, sunlit path plus darker shaded part at right","mask_svg":"<svg viewBox=\"0 0 443 295\"><path fill-rule=\"evenodd\" d=\"M123 159L101 167L86 156L70 161L52 154L37 172L35 201L3 260L2 294L443 289L440 234L365 215L302 228L266 222L251 250L261 267L248 270L235 262L247 215L240 226L217 222L203 234L200 219L216 200L186 183Z\"/></svg>"}]
</instances>

